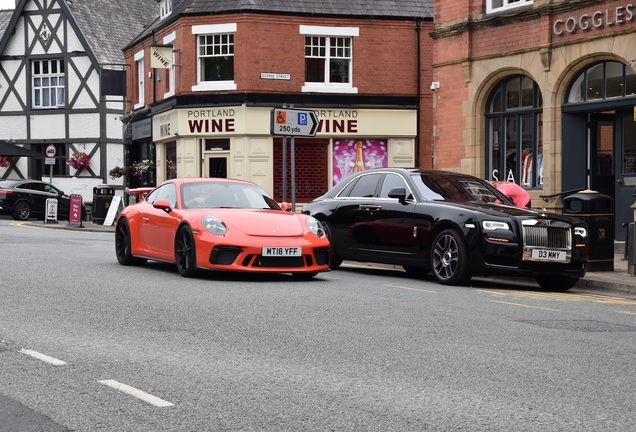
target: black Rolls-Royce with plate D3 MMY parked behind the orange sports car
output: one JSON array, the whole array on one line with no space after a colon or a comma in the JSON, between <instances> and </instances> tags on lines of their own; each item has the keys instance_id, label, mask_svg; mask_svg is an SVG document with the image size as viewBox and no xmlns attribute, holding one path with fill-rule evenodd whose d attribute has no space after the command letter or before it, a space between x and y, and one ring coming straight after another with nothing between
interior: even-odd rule
<instances>
[{"instance_id":1,"label":"black Rolls-Royce with plate D3 MMY parked behind the orange sports car","mask_svg":"<svg viewBox=\"0 0 636 432\"><path fill-rule=\"evenodd\" d=\"M404 168L354 174L303 206L342 260L397 264L445 285L473 275L531 276L566 291L585 274L587 226L580 219L515 207L478 177Z\"/></svg>"}]
</instances>

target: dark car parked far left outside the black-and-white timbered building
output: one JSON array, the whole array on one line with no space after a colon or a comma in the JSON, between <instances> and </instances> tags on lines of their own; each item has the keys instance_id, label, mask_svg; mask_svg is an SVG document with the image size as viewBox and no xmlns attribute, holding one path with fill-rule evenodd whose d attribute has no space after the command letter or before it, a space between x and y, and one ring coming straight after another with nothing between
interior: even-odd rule
<instances>
[{"instance_id":1,"label":"dark car parked far left outside the black-and-white timbered building","mask_svg":"<svg viewBox=\"0 0 636 432\"><path fill-rule=\"evenodd\" d=\"M39 180L0 181L0 214L11 215L15 220L44 219L46 200L57 199L58 220L68 220L70 197L50 183ZM82 203L82 220L86 207Z\"/></svg>"}]
</instances>

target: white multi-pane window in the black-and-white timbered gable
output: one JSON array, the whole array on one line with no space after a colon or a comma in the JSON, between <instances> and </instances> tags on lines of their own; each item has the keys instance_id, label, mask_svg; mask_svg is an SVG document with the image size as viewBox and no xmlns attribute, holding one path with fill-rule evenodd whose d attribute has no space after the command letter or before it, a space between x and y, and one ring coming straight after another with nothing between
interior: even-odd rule
<instances>
[{"instance_id":1,"label":"white multi-pane window in the black-and-white timbered gable","mask_svg":"<svg viewBox=\"0 0 636 432\"><path fill-rule=\"evenodd\" d=\"M58 108L65 104L64 60L33 60L33 108Z\"/></svg>"}]
</instances>

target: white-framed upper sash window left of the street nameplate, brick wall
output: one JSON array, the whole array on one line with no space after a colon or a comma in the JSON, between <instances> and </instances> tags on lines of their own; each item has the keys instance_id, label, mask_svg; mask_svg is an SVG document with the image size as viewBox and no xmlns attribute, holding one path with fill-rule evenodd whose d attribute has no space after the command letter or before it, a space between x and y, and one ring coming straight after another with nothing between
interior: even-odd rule
<instances>
[{"instance_id":1,"label":"white-framed upper sash window left of the street nameplate, brick wall","mask_svg":"<svg viewBox=\"0 0 636 432\"><path fill-rule=\"evenodd\" d=\"M197 35L197 85L193 91L236 90L234 33L236 24L192 27Z\"/></svg>"}]
</instances>

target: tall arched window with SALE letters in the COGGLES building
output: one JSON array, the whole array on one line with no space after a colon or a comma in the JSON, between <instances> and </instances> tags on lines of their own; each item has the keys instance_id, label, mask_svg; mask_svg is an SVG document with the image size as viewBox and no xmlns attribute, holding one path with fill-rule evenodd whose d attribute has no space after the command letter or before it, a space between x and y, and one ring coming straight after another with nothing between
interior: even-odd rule
<instances>
[{"instance_id":1,"label":"tall arched window with SALE letters in the COGGLES building","mask_svg":"<svg viewBox=\"0 0 636 432\"><path fill-rule=\"evenodd\" d=\"M543 186L542 99L529 77L506 78L486 109L486 172L490 180Z\"/></svg>"}]
</instances>

